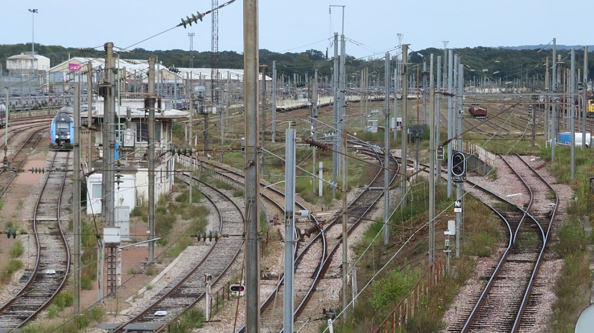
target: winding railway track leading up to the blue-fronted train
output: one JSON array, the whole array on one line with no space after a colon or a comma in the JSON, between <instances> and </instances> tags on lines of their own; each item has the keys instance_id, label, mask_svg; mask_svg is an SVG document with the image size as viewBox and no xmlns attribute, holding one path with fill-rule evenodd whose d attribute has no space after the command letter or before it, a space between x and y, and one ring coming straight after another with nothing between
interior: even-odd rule
<instances>
[{"instance_id":1,"label":"winding railway track leading up to the blue-fronted train","mask_svg":"<svg viewBox=\"0 0 594 333\"><path fill-rule=\"evenodd\" d=\"M50 154L53 156L49 172L33 213L33 235L37 247L35 265L21 278L21 281L26 281L21 290L0 307L0 327L9 331L23 326L43 310L64 287L69 273L70 252L60 223L69 152ZM60 195L56 196L56 193Z\"/></svg>"}]
</instances>

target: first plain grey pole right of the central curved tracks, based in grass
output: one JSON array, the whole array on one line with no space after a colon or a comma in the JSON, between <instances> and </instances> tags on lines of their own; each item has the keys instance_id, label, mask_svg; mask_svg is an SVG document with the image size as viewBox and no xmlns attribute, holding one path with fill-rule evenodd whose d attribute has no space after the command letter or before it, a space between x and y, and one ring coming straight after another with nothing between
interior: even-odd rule
<instances>
[{"instance_id":1,"label":"first plain grey pole right of the central curved tracks, based in grass","mask_svg":"<svg viewBox=\"0 0 594 333\"><path fill-rule=\"evenodd\" d=\"M390 52L384 62L384 245L390 242Z\"/></svg>"}]
</instances>

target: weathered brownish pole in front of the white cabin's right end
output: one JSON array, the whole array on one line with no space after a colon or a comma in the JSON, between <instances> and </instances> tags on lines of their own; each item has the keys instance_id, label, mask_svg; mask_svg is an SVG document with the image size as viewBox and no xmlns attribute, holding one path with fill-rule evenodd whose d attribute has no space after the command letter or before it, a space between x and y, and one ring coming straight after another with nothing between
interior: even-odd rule
<instances>
[{"instance_id":1,"label":"weathered brownish pole in front of the white cabin's right end","mask_svg":"<svg viewBox=\"0 0 594 333\"><path fill-rule=\"evenodd\" d=\"M149 57L149 98L146 108L149 109L149 241L154 239L154 64L156 59ZM149 263L154 261L154 242L149 242Z\"/></svg>"}]
</instances>

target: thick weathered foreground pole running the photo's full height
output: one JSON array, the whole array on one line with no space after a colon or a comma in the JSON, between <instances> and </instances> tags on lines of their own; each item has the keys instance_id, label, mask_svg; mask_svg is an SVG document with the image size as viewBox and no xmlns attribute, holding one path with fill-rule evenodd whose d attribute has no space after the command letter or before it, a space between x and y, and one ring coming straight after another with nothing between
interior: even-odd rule
<instances>
[{"instance_id":1,"label":"thick weathered foreground pole running the photo's full height","mask_svg":"<svg viewBox=\"0 0 594 333\"><path fill-rule=\"evenodd\" d=\"M244 0L245 331L260 332L260 158L258 153L258 0Z\"/></svg>"}]
</instances>

